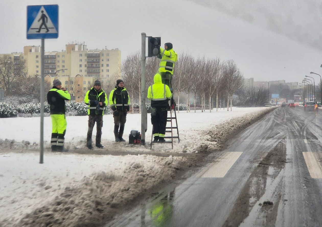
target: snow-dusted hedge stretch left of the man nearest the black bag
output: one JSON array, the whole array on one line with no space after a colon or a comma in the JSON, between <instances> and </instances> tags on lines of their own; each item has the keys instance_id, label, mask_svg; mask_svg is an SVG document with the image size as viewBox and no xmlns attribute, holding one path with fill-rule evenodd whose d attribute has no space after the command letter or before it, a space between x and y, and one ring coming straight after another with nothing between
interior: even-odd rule
<instances>
[{"instance_id":1,"label":"snow-dusted hedge stretch left of the man nearest the black bag","mask_svg":"<svg viewBox=\"0 0 322 227\"><path fill-rule=\"evenodd\" d=\"M49 105L44 104L44 112L49 113ZM104 107L104 114L111 114L109 106ZM35 117L40 114L40 103L24 103L14 104L9 102L0 103L0 118L16 117ZM84 102L77 103L75 101L66 102L67 116L85 116L87 115L87 105Z\"/></svg>"}]
</instances>

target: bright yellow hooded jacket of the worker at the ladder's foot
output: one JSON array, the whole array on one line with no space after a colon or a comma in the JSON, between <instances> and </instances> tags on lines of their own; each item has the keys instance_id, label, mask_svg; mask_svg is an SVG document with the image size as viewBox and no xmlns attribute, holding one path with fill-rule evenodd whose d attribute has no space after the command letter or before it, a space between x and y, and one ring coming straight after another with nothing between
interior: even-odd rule
<instances>
[{"instance_id":1,"label":"bright yellow hooded jacket of the worker at the ladder's foot","mask_svg":"<svg viewBox=\"0 0 322 227\"><path fill-rule=\"evenodd\" d=\"M172 93L169 86L162 84L161 75L154 75L154 84L147 89L147 98L151 100L151 106L168 106L168 99Z\"/></svg>"}]
</instances>

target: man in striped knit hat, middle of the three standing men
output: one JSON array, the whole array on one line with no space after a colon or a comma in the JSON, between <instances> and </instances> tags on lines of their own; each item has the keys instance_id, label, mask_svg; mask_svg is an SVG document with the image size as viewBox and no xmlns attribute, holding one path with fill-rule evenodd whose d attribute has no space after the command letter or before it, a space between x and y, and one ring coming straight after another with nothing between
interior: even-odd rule
<instances>
[{"instance_id":1,"label":"man in striped knit hat, middle of the three standing men","mask_svg":"<svg viewBox=\"0 0 322 227\"><path fill-rule=\"evenodd\" d=\"M101 88L99 80L95 80L94 86L86 92L84 102L88 105L88 131L86 146L93 149L92 132L96 122L96 143L95 146L103 148L101 144L104 107L107 106L108 100L106 92Z\"/></svg>"}]
</instances>

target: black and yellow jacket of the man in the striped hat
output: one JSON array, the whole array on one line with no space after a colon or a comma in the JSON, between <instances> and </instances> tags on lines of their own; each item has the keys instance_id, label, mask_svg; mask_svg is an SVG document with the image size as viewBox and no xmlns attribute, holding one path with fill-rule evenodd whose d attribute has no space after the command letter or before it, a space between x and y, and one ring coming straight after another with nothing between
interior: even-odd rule
<instances>
[{"instance_id":1,"label":"black and yellow jacket of the man in the striped hat","mask_svg":"<svg viewBox=\"0 0 322 227\"><path fill-rule=\"evenodd\" d=\"M95 101L102 103L102 106L99 107L99 110L97 110ZM88 105L88 115L104 115L104 107L108 105L106 92L103 89L98 92L94 87L86 92L84 102Z\"/></svg>"}]
</instances>

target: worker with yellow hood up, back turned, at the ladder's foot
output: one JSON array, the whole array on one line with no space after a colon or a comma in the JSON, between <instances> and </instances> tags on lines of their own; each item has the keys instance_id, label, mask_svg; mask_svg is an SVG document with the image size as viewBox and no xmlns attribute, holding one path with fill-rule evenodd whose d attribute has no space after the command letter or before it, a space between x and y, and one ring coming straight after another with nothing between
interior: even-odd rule
<instances>
[{"instance_id":1,"label":"worker with yellow hood up, back turned, at the ladder's foot","mask_svg":"<svg viewBox=\"0 0 322 227\"><path fill-rule=\"evenodd\" d=\"M168 116L168 100L172 97L169 86L162 83L161 75L154 75L154 84L147 90L147 98L151 100L151 123L153 125L153 142L164 143L166 120Z\"/></svg>"}]
</instances>

